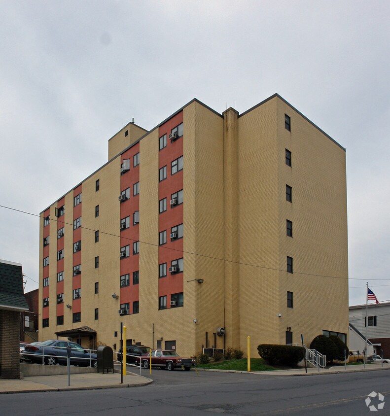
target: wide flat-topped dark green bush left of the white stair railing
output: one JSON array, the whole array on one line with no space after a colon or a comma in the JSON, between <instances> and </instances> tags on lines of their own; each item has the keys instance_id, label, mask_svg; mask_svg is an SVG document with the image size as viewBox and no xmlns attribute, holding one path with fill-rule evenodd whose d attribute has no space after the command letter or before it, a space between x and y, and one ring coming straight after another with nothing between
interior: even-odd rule
<instances>
[{"instance_id":1,"label":"wide flat-topped dark green bush left of the white stair railing","mask_svg":"<svg viewBox=\"0 0 390 416\"><path fill-rule=\"evenodd\" d=\"M281 363L293 367L305 356L304 348L289 345L260 344L257 350L270 365Z\"/></svg>"}]
</instances>

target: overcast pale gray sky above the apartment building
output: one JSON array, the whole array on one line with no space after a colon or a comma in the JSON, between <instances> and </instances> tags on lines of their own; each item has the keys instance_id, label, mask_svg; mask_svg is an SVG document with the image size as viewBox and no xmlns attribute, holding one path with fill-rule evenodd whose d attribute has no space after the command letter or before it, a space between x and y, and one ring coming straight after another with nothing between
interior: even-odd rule
<instances>
[{"instance_id":1,"label":"overcast pale gray sky above the apartment building","mask_svg":"<svg viewBox=\"0 0 390 416\"><path fill-rule=\"evenodd\" d=\"M196 97L275 92L347 149L350 304L390 300L389 1L0 1L0 205L39 214ZM0 258L38 281L39 220L0 208ZM359 280L360 279L360 280Z\"/></svg>"}]
</instances>

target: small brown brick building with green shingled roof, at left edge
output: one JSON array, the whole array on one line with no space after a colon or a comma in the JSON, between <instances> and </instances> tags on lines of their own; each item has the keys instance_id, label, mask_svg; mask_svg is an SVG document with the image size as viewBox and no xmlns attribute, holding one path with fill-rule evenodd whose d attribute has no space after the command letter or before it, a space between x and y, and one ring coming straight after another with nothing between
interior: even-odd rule
<instances>
[{"instance_id":1,"label":"small brown brick building with green shingled roof, at left edge","mask_svg":"<svg viewBox=\"0 0 390 416\"><path fill-rule=\"evenodd\" d=\"M27 311L22 265L0 260L0 378L19 379L20 312Z\"/></svg>"}]
</instances>

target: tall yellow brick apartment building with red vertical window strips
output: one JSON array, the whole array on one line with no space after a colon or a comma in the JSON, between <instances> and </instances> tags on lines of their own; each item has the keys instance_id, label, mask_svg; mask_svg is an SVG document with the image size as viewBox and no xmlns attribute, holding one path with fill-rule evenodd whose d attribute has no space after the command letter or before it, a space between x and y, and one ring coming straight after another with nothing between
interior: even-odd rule
<instances>
[{"instance_id":1,"label":"tall yellow brick apartment building with red vertical window strips","mask_svg":"<svg viewBox=\"0 0 390 416\"><path fill-rule=\"evenodd\" d=\"M120 322L127 344L184 355L346 340L345 149L277 94L129 123L42 211L39 264L40 340L118 347Z\"/></svg>"}]
</instances>

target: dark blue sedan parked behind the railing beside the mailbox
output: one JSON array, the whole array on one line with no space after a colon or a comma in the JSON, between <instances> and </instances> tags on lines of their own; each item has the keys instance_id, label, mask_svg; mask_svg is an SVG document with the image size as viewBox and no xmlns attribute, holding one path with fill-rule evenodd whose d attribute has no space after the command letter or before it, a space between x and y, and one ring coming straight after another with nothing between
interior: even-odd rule
<instances>
[{"instance_id":1,"label":"dark blue sedan parked behind the railing beside the mailbox","mask_svg":"<svg viewBox=\"0 0 390 416\"><path fill-rule=\"evenodd\" d=\"M39 344L29 344L25 347L23 357L34 363L42 364L42 351L44 355L44 363L48 365L62 364L67 365L67 347L71 347L71 364L79 366L89 366L91 358L91 366L97 367L97 356L93 352L89 352L80 345L71 341L63 340L47 340Z\"/></svg>"}]
</instances>

